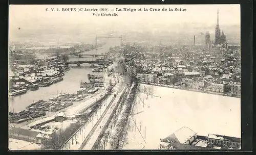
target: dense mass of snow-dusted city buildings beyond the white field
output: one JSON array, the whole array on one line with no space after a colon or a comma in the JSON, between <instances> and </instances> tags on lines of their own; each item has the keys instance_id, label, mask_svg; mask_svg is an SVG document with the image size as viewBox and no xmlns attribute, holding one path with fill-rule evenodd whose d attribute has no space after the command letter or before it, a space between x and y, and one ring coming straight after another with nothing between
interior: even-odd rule
<instances>
[{"instance_id":1,"label":"dense mass of snow-dusted city buildings beyond the white field","mask_svg":"<svg viewBox=\"0 0 256 155\"><path fill-rule=\"evenodd\" d=\"M198 46L173 46L169 54L152 53L154 57L148 50L141 50L140 57L125 55L126 64L136 68L138 81L240 96L239 46L210 51ZM163 54L165 57L160 57Z\"/></svg>"}]
</instances>

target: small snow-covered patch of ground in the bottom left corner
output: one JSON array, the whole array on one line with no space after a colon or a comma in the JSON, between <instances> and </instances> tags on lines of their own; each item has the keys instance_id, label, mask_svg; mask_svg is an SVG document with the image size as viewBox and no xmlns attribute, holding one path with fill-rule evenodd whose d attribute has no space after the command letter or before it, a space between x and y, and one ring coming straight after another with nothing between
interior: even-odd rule
<instances>
[{"instance_id":1,"label":"small snow-covered patch of ground in the bottom left corner","mask_svg":"<svg viewBox=\"0 0 256 155\"><path fill-rule=\"evenodd\" d=\"M9 138L10 150L35 150L40 149L41 145L23 140Z\"/></svg>"}]
</instances>

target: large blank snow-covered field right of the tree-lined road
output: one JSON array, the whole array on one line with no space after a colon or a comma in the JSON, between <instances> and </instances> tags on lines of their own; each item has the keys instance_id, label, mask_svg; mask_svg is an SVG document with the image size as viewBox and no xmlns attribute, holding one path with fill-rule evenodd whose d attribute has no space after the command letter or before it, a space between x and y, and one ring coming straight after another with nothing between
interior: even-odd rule
<instances>
[{"instance_id":1,"label":"large blank snow-covered field right of the tree-lined road","mask_svg":"<svg viewBox=\"0 0 256 155\"><path fill-rule=\"evenodd\" d=\"M240 98L144 84L140 87L153 88L153 96L146 99L146 94L139 93L123 149L158 149L160 138L184 125L198 135L241 137Z\"/></svg>"}]
</instances>

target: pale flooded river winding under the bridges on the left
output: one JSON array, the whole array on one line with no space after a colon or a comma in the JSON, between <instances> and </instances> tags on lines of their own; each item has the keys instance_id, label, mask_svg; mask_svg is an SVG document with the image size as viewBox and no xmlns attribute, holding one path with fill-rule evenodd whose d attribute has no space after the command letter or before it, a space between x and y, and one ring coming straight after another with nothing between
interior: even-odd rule
<instances>
[{"instance_id":1,"label":"pale flooded river winding under the bridges on the left","mask_svg":"<svg viewBox=\"0 0 256 155\"><path fill-rule=\"evenodd\" d=\"M94 49L91 51L85 52L86 54L104 54L109 51L109 48L113 46L113 44L105 44L102 47L99 47L98 50ZM70 56L69 61L75 61L78 58L75 56ZM82 60L90 60L90 59L97 59L96 58L79 58L79 61ZM94 66L95 67L95 66ZM36 91L28 90L26 94L9 97L9 111L22 111L25 110L27 106L32 104L32 102L44 99L48 100L59 93L76 93L77 90L80 89L80 82L89 82L87 74L92 74L93 66L89 64L82 64L80 67L73 67L68 72L65 72L65 76L63 76L63 81L53 84L49 87L40 87ZM101 73L94 73L94 74L102 74Z\"/></svg>"}]
</instances>

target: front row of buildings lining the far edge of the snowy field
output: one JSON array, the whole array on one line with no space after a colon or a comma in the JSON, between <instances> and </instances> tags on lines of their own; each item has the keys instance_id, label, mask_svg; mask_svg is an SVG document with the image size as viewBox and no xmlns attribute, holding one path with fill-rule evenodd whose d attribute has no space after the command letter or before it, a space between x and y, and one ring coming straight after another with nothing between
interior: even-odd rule
<instances>
[{"instance_id":1,"label":"front row of buildings lining the far edge of the snowy field","mask_svg":"<svg viewBox=\"0 0 256 155\"><path fill-rule=\"evenodd\" d=\"M211 75L200 76L199 72L184 72L176 76L172 73L137 73L137 79L148 84L178 85L184 88L203 90L240 96L241 84L239 82L225 82L220 79L214 80Z\"/></svg>"}]
</instances>

